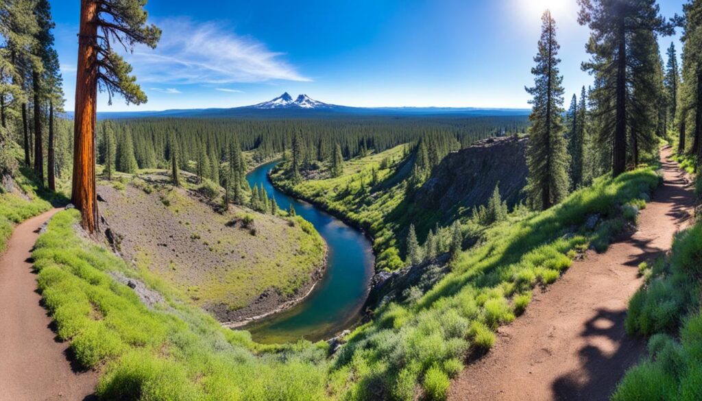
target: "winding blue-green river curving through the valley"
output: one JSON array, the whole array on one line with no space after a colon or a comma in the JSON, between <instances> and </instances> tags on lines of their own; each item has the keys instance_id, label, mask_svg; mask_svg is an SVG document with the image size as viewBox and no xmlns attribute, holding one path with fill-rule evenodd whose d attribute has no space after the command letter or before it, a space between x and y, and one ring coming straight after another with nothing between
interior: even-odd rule
<instances>
[{"instance_id":1,"label":"winding blue-green river curving through the valley","mask_svg":"<svg viewBox=\"0 0 702 401\"><path fill-rule=\"evenodd\" d=\"M371 243L359 230L274 188L268 173L278 163L259 166L246 180L251 187L263 184L268 196L274 197L281 209L289 209L292 204L299 216L314 225L329 246L326 271L304 301L241 329L251 331L253 339L260 343L331 338L360 317L373 275Z\"/></svg>"}]
</instances>

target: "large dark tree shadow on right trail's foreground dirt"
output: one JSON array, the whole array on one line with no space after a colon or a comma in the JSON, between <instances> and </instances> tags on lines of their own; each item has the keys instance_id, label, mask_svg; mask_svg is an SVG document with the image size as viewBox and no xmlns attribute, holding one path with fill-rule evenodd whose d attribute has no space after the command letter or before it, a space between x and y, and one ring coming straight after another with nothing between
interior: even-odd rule
<instances>
[{"instance_id":1,"label":"large dark tree shadow on right trail's foreground dirt","mask_svg":"<svg viewBox=\"0 0 702 401\"><path fill-rule=\"evenodd\" d=\"M581 337L587 344L578 351L581 369L552 383L556 400L609 400L623 373L646 349L645 341L626 335L625 317L625 308L599 309L585 323Z\"/></svg>"}]
</instances>

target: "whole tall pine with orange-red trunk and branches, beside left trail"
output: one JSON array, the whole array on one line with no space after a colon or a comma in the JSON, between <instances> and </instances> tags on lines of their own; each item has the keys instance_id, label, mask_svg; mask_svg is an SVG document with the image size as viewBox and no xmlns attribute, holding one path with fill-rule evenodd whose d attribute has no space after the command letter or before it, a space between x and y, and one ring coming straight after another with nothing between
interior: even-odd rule
<instances>
[{"instance_id":1,"label":"whole tall pine with orange-red trunk and branches, beside left trail","mask_svg":"<svg viewBox=\"0 0 702 401\"><path fill-rule=\"evenodd\" d=\"M147 25L146 0L81 0L78 34L76 104L74 116L72 202L81 211L81 225L88 232L99 228L95 192L95 113L98 86L126 103L147 98L131 76L131 65L114 50L117 41L128 49L136 44L154 48L161 36Z\"/></svg>"}]
</instances>

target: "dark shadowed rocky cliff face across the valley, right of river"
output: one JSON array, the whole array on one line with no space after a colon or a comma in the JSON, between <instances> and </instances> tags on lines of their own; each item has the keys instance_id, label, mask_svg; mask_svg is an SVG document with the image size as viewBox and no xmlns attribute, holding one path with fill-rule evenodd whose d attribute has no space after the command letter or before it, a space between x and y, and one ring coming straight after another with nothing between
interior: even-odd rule
<instances>
[{"instance_id":1,"label":"dark shadowed rocky cliff face across the valley, right of river","mask_svg":"<svg viewBox=\"0 0 702 401\"><path fill-rule=\"evenodd\" d=\"M490 138L446 156L419 188L417 208L441 211L444 221L485 204L496 183L508 204L524 199L527 185L527 138Z\"/></svg>"}]
</instances>

